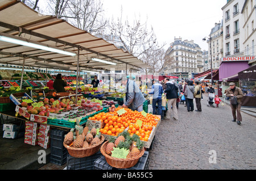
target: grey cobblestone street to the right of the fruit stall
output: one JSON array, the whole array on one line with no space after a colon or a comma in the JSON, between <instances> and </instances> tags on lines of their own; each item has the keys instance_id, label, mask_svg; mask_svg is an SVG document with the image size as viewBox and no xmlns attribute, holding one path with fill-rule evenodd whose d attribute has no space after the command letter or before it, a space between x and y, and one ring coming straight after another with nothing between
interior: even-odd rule
<instances>
[{"instance_id":1,"label":"grey cobblestone street to the right of the fruit stall","mask_svg":"<svg viewBox=\"0 0 256 181\"><path fill-rule=\"evenodd\" d=\"M230 106L187 112L179 105L179 120L162 120L149 155L148 169L256 169L256 119L242 113L242 124L232 122ZM216 151L216 163L209 163Z\"/></svg>"}]
</instances>

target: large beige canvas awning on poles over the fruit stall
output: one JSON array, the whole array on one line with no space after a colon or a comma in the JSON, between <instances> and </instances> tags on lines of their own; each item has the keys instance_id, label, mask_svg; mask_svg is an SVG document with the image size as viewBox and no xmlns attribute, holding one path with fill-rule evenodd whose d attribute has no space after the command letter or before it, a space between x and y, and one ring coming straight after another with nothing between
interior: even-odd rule
<instances>
[{"instance_id":1,"label":"large beige canvas awning on poles over the fruit stall","mask_svg":"<svg viewBox=\"0 0 256 181\"><path fill-rule=\"evenodd\" d=\"M31 41L67 52L76 56L42 50L35 47L0 41L0 63L40 68L77 70L126 70L150 68L137 57L104 39L91 35L51 15L42 15L18 0L0 1L0 35L23 41ZM79 55L79 56L78 56ZM117 65L93 61L98 58ZM79 59L79 60L78 60Z\"/></svg>"}]
</instances>

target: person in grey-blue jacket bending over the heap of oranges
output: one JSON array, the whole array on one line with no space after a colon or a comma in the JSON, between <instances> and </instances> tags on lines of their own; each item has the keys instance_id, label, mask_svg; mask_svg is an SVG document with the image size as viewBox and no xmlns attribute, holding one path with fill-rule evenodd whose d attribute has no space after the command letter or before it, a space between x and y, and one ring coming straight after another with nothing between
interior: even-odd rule
<instances>
[{"instance_id":1,"label":"person in grey-blue jacket bending over the heap of oranges","mask_svg":"<svg viewBox=\"0 0 256 181\"><path fill-rule=\"evenodd\" d=\"M145 102L145 98L141 90L139 90L137 83L129 79L127 76L122 80L122 84L126 86L126 102L122 107L130 108L134 111L137 110L139 112L143 111L143 103Z\"/></svg>"}]
</instances>

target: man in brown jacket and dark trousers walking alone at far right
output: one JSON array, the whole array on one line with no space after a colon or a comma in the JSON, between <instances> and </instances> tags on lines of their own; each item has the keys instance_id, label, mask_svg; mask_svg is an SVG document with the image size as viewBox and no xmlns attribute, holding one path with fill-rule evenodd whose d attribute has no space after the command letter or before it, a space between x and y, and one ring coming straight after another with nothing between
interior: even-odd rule
<instances>
[{"instance_id":1,"label":"man in brown jacket and dark trousers walking alone at far right","mask_svg":"<svg viewBox=\"0 0 256 181\"><path fill-rule=\"evenodd\" d=\"M237 124L241 125L241 121L242 121L241 104L242 104L242 97L243 97L242 90L239 87L236 87L236 84L234 82L230 82L229 88L226 89L226 96L230 98L230 107L233 115L232 121L233 122L237 121ZM233 101L233 100L236 100L236 101ZM236 102L236 103L233 103L233 102Z\"/></svg>"}]
</instances>

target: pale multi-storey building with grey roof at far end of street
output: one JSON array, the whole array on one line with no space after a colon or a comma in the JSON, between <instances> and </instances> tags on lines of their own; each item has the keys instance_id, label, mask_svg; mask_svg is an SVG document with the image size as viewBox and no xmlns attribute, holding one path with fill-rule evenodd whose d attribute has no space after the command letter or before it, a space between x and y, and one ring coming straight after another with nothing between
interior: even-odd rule
<instances>
[{"instance_id":1,"label":"pale multi-storey building with grey roof at far end of street","mask_svg":"<svg viewBox=\"0 0 256 181\"><path fill-rule=\"evenodd\" d=\"M182 41L181 37L175 38L167 49L163 74L191 78L193 74L203 72L202 53L199 45L193 40Z\"/></svg>"}]
</instances>

